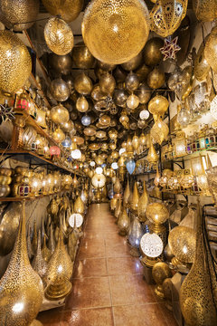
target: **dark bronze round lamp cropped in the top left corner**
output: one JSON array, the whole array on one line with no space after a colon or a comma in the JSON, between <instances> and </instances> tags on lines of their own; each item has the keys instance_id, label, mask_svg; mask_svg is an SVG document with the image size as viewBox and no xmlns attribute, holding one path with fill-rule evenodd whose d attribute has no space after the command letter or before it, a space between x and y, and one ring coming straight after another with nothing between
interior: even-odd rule
<instances>
[{"instance_id":1,"label":"dark bronze round lamp cropped in the top left corner","mask_svg":"<svg viewBox=\"0 0 217 326\"><path fill-rule=\"evenodd\" d=\"M39 0L0 0L0 22L14 31L30 28L38 13Z\"/></svg>"}]
</instances>

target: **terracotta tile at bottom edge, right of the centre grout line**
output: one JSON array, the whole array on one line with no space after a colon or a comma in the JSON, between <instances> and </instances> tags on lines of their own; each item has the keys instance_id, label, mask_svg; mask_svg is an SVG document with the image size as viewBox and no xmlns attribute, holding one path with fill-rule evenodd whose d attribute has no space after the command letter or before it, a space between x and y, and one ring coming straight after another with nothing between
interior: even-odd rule
<instances>
[{"instance_id":1,"label":"terracotta tile at bottom edge, right of the centre grout line","mask_svg":"<svg viewBox=\"0 0 217 326\"><path fill-rule=\"evenodd\" d=\"M114 307L116 326L167 326L157 304Z\"/></svg>"}]
</instances>

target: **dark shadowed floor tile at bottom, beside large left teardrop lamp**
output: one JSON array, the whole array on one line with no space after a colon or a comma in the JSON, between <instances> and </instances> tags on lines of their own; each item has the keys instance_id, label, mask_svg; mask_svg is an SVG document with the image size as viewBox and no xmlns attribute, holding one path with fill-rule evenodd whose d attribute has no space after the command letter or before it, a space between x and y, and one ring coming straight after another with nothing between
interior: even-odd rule
<instances>
[{"instance_id":1,"label":"dark shadowed floor tile at bottom, beside large left teardrop lamp","mask_svg":"<svg viewBox=\"0 0 217 326\"><path fill-rule=\"evenodd\" d=\"M51 309L49 311L40 312L37 316L37 320L41 321L43 326L60 326L61 313L64 307Z\"/></svg>"}]
</instances>

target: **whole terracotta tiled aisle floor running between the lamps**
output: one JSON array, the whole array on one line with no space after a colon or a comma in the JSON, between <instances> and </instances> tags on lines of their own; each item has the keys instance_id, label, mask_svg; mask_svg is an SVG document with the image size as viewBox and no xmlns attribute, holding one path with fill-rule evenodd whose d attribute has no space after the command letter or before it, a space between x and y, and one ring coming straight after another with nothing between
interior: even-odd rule
<instances>
[{"instance_id":1,"label":"whole terracotta tiled aisle floor running between the lamps","mask_svg":"<svg viewBox=\"0 0 217 326\"><path fill-rule=\"evenodd\" d=\"M72 283L64 307L38 316L44 326L177 326L144 281L107 204L90 206Z\"/></svg>"}]
</instances>

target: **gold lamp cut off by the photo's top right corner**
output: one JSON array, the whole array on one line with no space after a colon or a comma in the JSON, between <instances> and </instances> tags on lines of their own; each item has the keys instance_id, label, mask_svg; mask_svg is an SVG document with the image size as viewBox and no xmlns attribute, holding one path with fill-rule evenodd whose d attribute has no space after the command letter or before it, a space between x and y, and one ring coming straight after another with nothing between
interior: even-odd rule
<instances>
[{"instance_id":1,"label":"gold lamp cut off by the photo's top right corner","mask_svg":"<svg viewBox=\"0 0 217 326\"><path fill-rule=\"evenodd\" d=\"M212 22L217 17L217 1L193 0L193 11L198 20Z\"/></svg>"}]
</instances>

